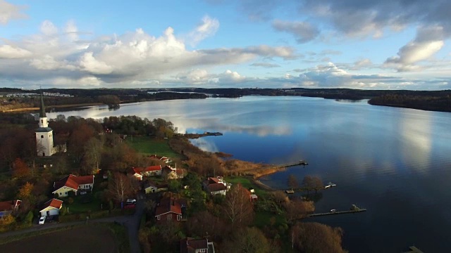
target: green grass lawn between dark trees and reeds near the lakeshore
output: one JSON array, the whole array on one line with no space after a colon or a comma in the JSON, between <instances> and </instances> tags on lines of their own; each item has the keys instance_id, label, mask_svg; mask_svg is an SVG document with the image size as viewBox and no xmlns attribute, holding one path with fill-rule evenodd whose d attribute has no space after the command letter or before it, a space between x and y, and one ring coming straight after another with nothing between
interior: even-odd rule
<instances>
[{"instance_id":1,"label":"green grass lawn between dark trees and reeds near the lakeshore","mask_svg":"<svg viewBox=\"0 0 451 253\"><path fill-rule=\"evenodd\" d=\"M171 150L167 139L157 139L149 136L134 136L133 141L131 137L128 137L126 142L138 153L146 155L161 155L170 158L180 157L178 153Z\"/></svg>"}]
</instances>

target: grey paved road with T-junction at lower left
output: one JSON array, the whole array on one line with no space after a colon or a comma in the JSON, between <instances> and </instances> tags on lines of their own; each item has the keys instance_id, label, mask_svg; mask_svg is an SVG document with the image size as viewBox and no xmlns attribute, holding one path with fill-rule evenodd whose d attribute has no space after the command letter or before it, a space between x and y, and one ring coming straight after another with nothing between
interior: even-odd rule
<instances>
[{"instance_id":1,"label":"grey paved road with T-junction at lower left","mask_svg":"<svg viewBox=\"0 0 451 253\"><path fill-rule=\"evenodd\" d=\"M135 206L135 214L126 215L126 216L116 216L116 217L108 217L103 219L95 219L92 222L117 222L121 223L123 226L127 228L128 231L128 240L130 242L130 252L132 253L141 253L140 240L138 239L138 230L140 229L140 221L141 216L144 213L144 202L145 195L144 193L138 193L137 202ZM80 225L86 223L86 221L73 221L68 223L46 223L44 225L33 225L32 228L22 229L19 231L11 231L6 233L0 233L1 238L6 238L11 235L20 235L23 233L30 233L35 231L44 231L50 228L61 228L70 225Z\"/></svg>"}]
</instances>

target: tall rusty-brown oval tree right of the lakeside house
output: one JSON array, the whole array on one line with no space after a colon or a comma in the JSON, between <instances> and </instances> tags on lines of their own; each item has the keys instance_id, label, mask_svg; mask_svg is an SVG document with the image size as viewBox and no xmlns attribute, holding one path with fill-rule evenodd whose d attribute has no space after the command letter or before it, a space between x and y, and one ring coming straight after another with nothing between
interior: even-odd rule
<instances>
[{"instance_id":1,"label":"tall rusty-brown oval tree right of the lakeside house","mask_svg":"<svg viewBox=\"0 0 451 253\"><path fill-rule=\"evenodd\" d=\"M249 199L249 191L240 183L232 186L226 195L223 211L232 223L232 228L251 223L254 218L254 206Z\"/></svg>"}]
</instances>

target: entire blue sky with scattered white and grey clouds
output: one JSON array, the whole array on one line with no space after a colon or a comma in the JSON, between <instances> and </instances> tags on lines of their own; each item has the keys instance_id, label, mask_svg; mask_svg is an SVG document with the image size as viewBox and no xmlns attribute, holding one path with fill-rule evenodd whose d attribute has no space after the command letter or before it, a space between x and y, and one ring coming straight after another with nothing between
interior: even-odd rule
<instances>
[{"instance_id":1,"label":"entire blue sky with scattered white and grey clouds","mask_svg":"<svg viewBox=\"0 0 451 253\"><path fill-rule=\"evenodd\" d=\"M0 86L451 89L449 0L0 0Z\"/></svg>"}]
</instances>

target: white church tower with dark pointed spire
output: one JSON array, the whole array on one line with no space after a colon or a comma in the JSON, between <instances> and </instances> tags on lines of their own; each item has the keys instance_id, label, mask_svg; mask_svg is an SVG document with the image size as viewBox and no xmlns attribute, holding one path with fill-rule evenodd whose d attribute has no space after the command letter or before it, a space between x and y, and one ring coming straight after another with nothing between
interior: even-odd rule
<instances>
[{"instance_id":1,"label":"white church tower with dark pointed spire","mask_svg":"<svg viewBox=\"0 0 451 253\"><path fill-rule=\"evenodd\" d=\"M56 153L54 148L54 134L49 127L45 115L44 98L41 93L41 108L39 108L39 128L36 129L36 151L37 156L51 156Z\"/></svg>"}]
</instances>

